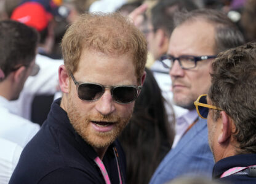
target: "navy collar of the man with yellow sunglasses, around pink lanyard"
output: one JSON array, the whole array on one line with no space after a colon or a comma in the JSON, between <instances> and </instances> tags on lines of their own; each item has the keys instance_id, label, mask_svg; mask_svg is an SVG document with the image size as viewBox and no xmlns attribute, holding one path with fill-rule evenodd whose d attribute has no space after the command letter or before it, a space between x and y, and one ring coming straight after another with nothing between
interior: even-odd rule
<instances>
[{"instance_id":1,"label":"navy collar of the man with yellow sunglasses, around pink lanyard","mask_svg":"<svg viewBox=\"0 0 256 184\"><path fill-rule=\"evenodd\" d=\"M256 154L243 154L223 158L214 165L212 178L226 183L256 183L256 177L249 177L247 175L229 175L220 178L223 172L228 171L233 167L247 167L256 165Z\"/></svg>"}]
</instances>

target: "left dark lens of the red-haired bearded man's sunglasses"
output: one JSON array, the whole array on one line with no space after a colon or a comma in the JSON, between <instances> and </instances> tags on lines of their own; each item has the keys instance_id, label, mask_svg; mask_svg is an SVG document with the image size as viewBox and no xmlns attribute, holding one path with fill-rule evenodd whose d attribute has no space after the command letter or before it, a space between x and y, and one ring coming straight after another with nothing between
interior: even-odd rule
<instances>
[{"instance_id":1,"label":"left dark lens of the red-haired bearded man's sunglasses","mask_svg":"<svg viewBox=\"0 0 256 184\"><path fill-rule=\"evenodd\" d=\"M90 83L83 83L78 87L78 96L80 99L86 101L93 101L95 99L99 99L104 90L102 86Z\"/></svg>"}]
</instances>

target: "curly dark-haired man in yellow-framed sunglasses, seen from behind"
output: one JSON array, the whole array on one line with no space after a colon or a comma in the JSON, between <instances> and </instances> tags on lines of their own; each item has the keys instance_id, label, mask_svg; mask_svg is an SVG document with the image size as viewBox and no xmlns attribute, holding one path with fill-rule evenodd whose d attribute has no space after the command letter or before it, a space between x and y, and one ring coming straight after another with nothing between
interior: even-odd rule
<instances>
[{"instance_id":1,"label":"curly dark-haired man in yellow-framed sunglasses, seen from behind","mask_svg":"<svg viewBox=\"0 0 256 184\"><path fill-rule=\"evenodd\" d=\"M220 53L212 63L212 85L194 102L207 118L215 159L212 177L231 183L256 183L256 44Z\"/></svg>"}]
</instances>

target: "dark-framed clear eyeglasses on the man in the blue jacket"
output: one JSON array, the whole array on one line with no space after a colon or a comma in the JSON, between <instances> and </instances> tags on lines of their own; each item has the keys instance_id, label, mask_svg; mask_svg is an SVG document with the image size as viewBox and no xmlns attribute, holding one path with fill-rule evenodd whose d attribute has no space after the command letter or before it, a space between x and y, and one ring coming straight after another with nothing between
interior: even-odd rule
<instances>
[{"instance_id":1,"label":"dark-framed clear eyeglasses on the man in the blue jacket","mask_svg":"<svg viewBox=\"0 0 256 184\"><path fill-rule=\"evenodd\" d=\"M177 59L178 64L180 64L180 67L183 69L191 69L196 67L196 63L198 61L206 60L206 59L211 59L211 58L216 58L216 56L179 56L175 58L172 55L163 55L160 58L160 61L164 65L164 67L171 69L172 66L174 65L174 61Z\"/></svg>"}]
</instances>

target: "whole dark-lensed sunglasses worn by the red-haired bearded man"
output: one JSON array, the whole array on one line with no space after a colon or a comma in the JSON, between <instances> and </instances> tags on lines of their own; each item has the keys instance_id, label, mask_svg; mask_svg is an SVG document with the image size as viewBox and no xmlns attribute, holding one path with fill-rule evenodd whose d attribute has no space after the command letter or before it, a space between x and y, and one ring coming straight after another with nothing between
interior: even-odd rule
<instances>
[{"instance_id":1,"label":"whole dark-lensed sunglasses worn by the red-haired bearded man","mask_svg":"<svg viewBox=\"0 0 256 184\"><path fill-rule=\"evenodd\" d=\"M114 102L129 104L137 99L138 93L142 90L142 86L134 85L104 86L98 83L77 82L71 72L70 75L76 85L78 98L84 101L97 101L105 93L105 88L109 88Z\"/></svg>"}]
</instances>

